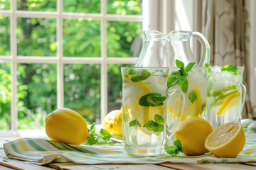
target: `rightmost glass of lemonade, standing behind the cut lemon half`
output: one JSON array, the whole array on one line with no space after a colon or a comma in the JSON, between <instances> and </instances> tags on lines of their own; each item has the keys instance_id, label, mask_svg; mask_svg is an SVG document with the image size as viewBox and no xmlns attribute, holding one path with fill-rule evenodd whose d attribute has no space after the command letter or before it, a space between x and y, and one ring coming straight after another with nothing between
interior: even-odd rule
<instances>
[{"instance_id":1,"label":"rightmost glass of lemonade, standing behind the cut lemon half","mask_svg":"<svg viewBox=\"0 0 256 170\"><path fill-rule=\"evenodd\" d=\"M213 129L230 121L239 121L245 103L242 84L244 67L210 67L207 77L206 120Z\"/></svg>"}]
</instances>

